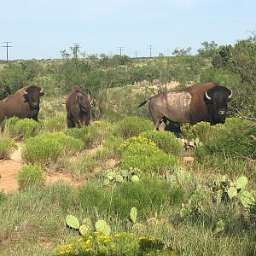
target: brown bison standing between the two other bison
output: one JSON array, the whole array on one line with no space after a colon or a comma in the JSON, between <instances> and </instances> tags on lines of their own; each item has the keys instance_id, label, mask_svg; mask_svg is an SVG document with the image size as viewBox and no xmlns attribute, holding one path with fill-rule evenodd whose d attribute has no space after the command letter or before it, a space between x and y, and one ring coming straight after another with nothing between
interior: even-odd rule
<instances>
[{"instance_id":1,"label":"brown bison standing between the two other bison","mask_svg":"<svg viewBox=\"0 0 256 256\"><path fill-rule=\"evenodd\" d=\"M90 124L90 108L92 102L91 94L89 98L79 86L73 87L73 90L67 96L66 101L68 128L75 127L76 125L80 128L83 125Z\"/></svg>"}]
</instances>

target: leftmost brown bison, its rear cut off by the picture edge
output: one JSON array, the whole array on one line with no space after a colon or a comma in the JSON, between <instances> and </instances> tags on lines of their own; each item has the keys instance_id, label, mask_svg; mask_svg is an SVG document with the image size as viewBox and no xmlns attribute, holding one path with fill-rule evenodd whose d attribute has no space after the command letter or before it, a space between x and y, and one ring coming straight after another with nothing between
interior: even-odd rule
<instances>
[{"instance_id":1,"label":"leftmost brown bison, its rear cut off by the picture edge","mask_svg":"<svg viewBox=\"0 0 256 256\"><path fill-rule=\"evenodd\" d=\"M40 96L44 96L43 88L31 85L23 87L13 95L4 98L0 101L0 124L3 119L13 116L38 121Z\"/></svg>"}]
</instances>

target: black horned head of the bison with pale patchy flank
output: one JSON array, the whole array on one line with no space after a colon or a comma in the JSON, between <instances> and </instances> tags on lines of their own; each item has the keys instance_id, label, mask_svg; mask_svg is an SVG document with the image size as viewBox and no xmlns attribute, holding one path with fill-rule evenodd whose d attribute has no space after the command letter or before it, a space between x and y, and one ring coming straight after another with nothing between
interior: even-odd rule
<instances>
[{"instance_id":1,"label":"black horned head of the bison with pale patchy flank","mask_svg":"<svg viewBox=\"0 0 256 256\"><path fill-rule=\"evenodd\" d=\"M224 86L215 86L206 91L204 101L207 103L212 125L224 124L227 102L230 102L231 96L232 91Z\"/></svg>"}]
</instances>

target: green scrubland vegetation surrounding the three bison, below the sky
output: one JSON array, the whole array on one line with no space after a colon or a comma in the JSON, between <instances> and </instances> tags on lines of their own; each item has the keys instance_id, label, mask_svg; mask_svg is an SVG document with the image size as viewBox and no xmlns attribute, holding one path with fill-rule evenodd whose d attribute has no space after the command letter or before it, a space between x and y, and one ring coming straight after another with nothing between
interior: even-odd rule
<instances>
[{"instance_id":1,"label":"green scrubland vegetation surrounding the three bison, below the sky","mask_svg":"<svg viewBox=\"0 0 256 256\"><path fill-rule=\"evenodd\" d=\"M39 122L1 124L0 159L20 143L26 163L20 189L0 191L1 255L255 255L255 36L201 45L198 55L76 58L72 49L61 60L3 64L1 99L27 84L45 96ZM183 140L153 131L137 106L172 81L232 89L226 123L184 124ZM73 85L96 98L81 129L66 126ZM78 186L46 182L55 172Z\"/></svg>"}]
</instances>

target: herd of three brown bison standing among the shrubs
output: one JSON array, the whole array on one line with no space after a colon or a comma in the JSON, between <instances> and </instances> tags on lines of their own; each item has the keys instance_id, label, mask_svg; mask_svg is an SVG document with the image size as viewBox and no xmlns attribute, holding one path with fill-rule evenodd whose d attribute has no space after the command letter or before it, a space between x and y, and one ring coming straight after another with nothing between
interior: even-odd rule
<instances>
[{"instance_id":1,"label":"herd of three brown bison standing among the shrubs","mask_svg":"<svg viewBox=\"0 0 256 256\"><path fill-rule=\"evenodd\" d=\"M3 119L17 116L20 119L38 121L40 96L44 96L43 88L35 85L17 90L13 95L0 101L0 124ZM148 102L149 112L154 121L154 129L165 127L167 121L173 125L190 123L194 125L206 121L212 125L225 122L227 102L232 91L214 83L194 84L183 90L161 92L139 104L142 107ZM89 125L93 99L90 91L85 93L79 86L67 96L67 127Z\"/></svg>"}]
</instances>

